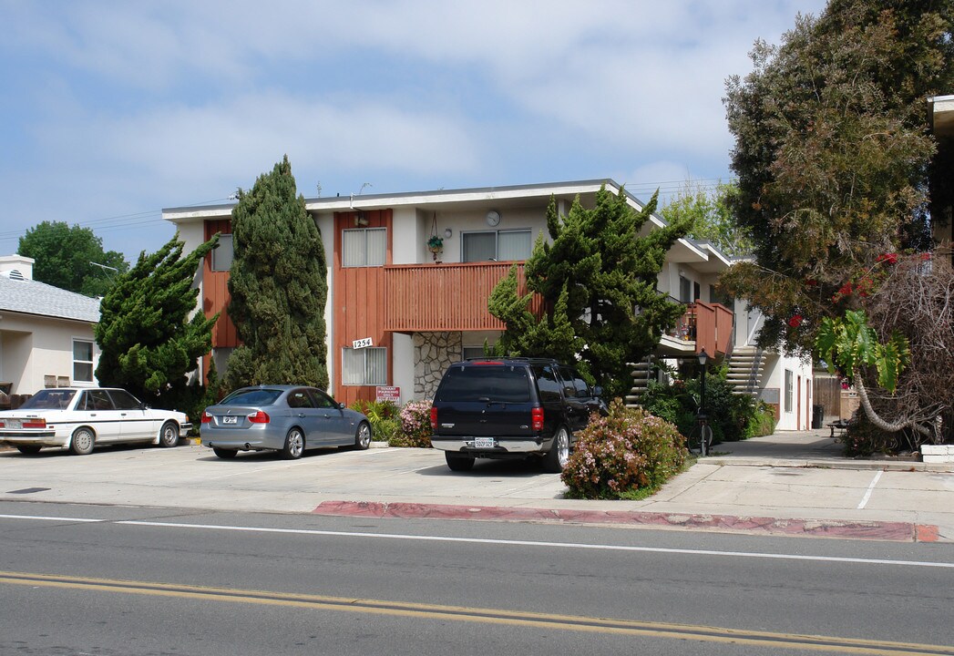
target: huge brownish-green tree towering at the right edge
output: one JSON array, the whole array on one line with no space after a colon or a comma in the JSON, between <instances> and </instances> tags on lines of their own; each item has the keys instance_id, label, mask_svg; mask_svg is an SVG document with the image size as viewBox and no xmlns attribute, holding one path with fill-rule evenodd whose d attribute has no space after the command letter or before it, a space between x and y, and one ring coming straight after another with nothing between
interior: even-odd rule
<instances>
[{"instance_id":1,"label":"huge brownish-green tree towering at the right edge","mask_svg":"<svg viewBox=\"0 0 954 656\"><path fill-rule=\"evenodd\" d=\"M778 48L757 42L754 72L728 80L730 205L755 259L722 283L765 314L762 345L807 353L822 326L861 335L847 313L883 293L900 253L927 247L925 98L954 89L952 20L950 0L832 0L818 18L799 16ZM884 317L875 327L888 344L907 318ZM856 373L878 385L875 367ZM894 423L923 417L912 410Z\"/></svg>"}]
</instances>

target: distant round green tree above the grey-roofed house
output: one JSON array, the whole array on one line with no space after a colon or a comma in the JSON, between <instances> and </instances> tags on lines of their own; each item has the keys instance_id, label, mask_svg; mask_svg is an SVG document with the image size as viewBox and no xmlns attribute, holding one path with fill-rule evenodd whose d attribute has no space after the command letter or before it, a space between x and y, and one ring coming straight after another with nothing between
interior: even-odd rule
<instances>
[{"instance_id":1,"label":"distant round green tree above the grey-roofed house","mask_svg":"<svg viewBox=\"0 0 954 656\"><path fill-rule=\"evenodd\" d=\"M17 253L36 260L35 279L88 297L105 295L115 277L129 271L121 253L103 251L103 240L93 230L63 221L43 221L28 230Z\"/></svg>"}]
</instances>

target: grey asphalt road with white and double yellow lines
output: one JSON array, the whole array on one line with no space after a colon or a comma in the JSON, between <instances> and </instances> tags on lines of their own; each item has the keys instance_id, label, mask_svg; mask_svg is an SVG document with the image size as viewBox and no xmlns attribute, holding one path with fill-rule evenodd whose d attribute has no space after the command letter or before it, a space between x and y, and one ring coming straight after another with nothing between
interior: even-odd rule
<instances>
[{"instance_id":1,"label":"grey asphalt road with white and double yellow lines","mask_svg":"<svg viewBox=\"0 0 954 656\"><path fill-rule=\"evenodd\" d=\"M0 502L0 655L954 654L954 548Z\"/></svg>"}]
</instances>

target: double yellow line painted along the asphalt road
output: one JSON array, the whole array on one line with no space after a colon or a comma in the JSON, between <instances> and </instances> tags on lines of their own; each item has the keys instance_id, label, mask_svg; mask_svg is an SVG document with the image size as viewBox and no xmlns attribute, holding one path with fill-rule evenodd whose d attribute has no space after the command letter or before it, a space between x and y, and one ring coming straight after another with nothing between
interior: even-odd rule
<instances>
[{"instance_id":1,"label":"double yellow line painted along the asphalt road","mask_svg":"<svg viewBox=\"0 0 954 656\"><path fill-rule=\"evenodd\" d=\"M243 590L204 585L161 584L145 581L121 581L87 577L31 574L0 571L0 584L34 585L93 590L119 594L139 594L179 599L198 599L234 604L294 606L398 617L476 622L489 625L529 626L562 631L650 636L711 643L736 643L771 648L810 649L850 654L894 654L954 656L954 647L857 640L833 636L798 635L747 631L704 625L675 625L660 622L634 622L577 615L525 613L501 608L476 608L453 605L411 604L377 599L352 599L303 595L267 590Z\"/></svg>"}]
</instances>

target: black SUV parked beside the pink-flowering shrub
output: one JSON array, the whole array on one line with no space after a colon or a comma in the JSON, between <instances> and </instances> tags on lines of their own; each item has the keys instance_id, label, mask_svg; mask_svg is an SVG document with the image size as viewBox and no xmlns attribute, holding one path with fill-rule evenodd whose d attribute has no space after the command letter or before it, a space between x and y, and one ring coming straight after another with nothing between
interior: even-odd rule
<instances>
[{"instance_id":1,"label":"black SUV parked beside the pink-flowering shrub","mask_svg":"<svg viewBox=\"0 0 954 656\"><path fill-rule=\"evenodd\" d=\"M447 466L467 471L477 458L542 458L563 470L573 432L606 404L576 371L555 359L477 358L447 368L430 409Z\"/></svg>"}]
</instances>

